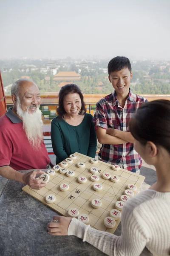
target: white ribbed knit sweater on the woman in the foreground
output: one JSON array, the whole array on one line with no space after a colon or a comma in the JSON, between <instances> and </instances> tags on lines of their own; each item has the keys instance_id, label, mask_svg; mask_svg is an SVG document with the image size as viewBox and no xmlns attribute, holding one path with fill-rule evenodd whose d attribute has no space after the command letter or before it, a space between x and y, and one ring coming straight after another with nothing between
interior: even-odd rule
<instances>
[{"instance_id":1,"label":"white ribbed knit sweater on the woman in the foreground","mask_svg":"<svg viewBox=\"0 0 170 256\"><path fill-rule=\"evenodd\" d=\"M111 256L139 256L145 246L154 256L170 255L170 192L141 192L124 205L121 221L122 234L115 236L73 218L68 235Z\"/></svg>"}]
</instances>

